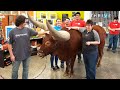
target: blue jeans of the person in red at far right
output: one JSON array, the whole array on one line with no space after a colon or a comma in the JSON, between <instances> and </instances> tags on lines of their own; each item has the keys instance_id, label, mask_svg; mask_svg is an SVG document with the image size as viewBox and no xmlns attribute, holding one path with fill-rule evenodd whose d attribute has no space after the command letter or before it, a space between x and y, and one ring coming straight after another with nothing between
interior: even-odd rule
<instances>
[{"instance_id":1,"label":"blue jeans of the person in red at far right","mask_svg":"<svg viewBox=\"0 0 120 90\"><path fill-rule=\"evenodd\" d=\"M118 42L119 35L109 35L109 46L108 48L112 48L112 50L116 50L117 42ZM113 45L113 47L112 47Z\"/></svg>"}]
</instances>

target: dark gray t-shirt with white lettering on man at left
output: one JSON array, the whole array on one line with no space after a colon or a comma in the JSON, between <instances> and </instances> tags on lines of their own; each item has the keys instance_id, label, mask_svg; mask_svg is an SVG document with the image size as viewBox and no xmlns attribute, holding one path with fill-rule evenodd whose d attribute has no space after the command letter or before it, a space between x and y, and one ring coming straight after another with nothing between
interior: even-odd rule
<instances>
[{"instance_id":1,"label":"dark gray t-shirt with white lettering on man at left","mask_svg":"<svg viewBox=\"0 0 120 90\"><path fill-rule=\"evenodd\" d=\"M14 28L9 33L9 44L12 44L16 60L25 60L31 55L30 37L38 33L30 28Z\"/></svg>"}]
</instances>

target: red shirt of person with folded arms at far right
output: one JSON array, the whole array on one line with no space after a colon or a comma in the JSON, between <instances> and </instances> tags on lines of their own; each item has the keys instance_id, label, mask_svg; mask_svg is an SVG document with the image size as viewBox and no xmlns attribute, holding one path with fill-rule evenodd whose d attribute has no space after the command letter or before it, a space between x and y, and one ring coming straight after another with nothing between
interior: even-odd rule
<instances>
[{"instance_id":1,"label":"red shirt of person with folded arms at far right","mask_svg":"<svg viewBox=\"0 0 120 90\"><path fill-rule=\"evenodd\" d=\"M109 27L110 27L111 29L120 28L120 23L119 23L119 22L111 22L111 23L109 24ZM118 34L119 34L119 30L115 30L115 31L109 30L109 33L110 33L110 34L113 34L113 35L118 35Z\"/></svg>"}]
</instances>

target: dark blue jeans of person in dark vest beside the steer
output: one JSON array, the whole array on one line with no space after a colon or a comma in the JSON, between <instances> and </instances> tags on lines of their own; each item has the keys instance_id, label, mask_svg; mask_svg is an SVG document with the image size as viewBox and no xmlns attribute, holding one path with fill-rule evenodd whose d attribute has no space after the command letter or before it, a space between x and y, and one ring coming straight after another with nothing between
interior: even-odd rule
<instances>
[{"instance_id":1,"label":"dark blue jeans of person in dark vest beside the steer","mask_svg":"<svg viewBox=\"0 0 120 90\"><path fill-rule=\"evenodd\" d=\"M90 53L83 53L84 64L86 69L86 78L95 79L96 78L96 64L98 61L98 51L93 51Z\"/></svg>"}]
</instances>

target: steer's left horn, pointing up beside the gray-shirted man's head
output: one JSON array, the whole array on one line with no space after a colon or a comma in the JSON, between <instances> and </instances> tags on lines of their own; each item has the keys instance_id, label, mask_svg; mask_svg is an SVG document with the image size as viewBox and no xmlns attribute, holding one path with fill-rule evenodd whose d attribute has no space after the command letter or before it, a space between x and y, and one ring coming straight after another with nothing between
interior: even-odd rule
<instances>
[{"instance_id":1,"label":"steer's left horn, pointing up beside the gray-shirted man's head","mask_svg":"<svg viewBox=\"0 0 120 90\"><path fill-rule=\"evenodd\" d=\"M47 26L41 22L35 21L27 12L28 18L30 19L30 21L35 25L38 26L39 28L42 28L44 30L48 30Z\"/></svg>"}]
</instances>

